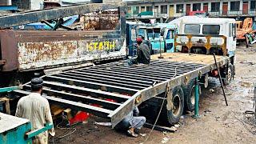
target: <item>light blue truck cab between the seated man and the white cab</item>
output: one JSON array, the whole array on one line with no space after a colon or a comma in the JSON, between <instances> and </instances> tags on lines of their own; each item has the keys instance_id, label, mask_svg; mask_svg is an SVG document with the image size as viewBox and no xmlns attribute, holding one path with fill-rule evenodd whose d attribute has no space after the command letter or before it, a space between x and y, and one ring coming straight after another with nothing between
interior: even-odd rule
<instances>
[{"instance_id":1,"label":"light blue truck cab between the seated man and the white cab","mask_svg":"<svg viewBox=\"0 0 256 144\"><path fill-rule=\"evenodd\" d=\"M166 30L163 39L161 40L160 35L162 29ZM162 52L174 52L174 35L177 33L177 28L175 25L168 23L147 24L146 30L151 42L153 54L158 54L160 49Z\"/></svg>"}]
</instances>

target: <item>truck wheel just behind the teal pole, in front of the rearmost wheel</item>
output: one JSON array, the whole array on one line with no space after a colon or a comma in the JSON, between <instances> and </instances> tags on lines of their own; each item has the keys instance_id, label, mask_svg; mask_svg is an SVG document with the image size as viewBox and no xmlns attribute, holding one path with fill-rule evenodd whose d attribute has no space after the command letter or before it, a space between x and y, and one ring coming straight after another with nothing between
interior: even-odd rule
<instances>
[{"instance_id":1,"label":"truck wheel just behind the teal pole, in front of the rearmost wheel","mask_svg":"<svg viewBox=\"0 0 256 144\"><path fill-rule=\"evenodd\" d=\"M191 79L187 85L182 85L182 90L184 92L184 110L194 110L194 86L194 79Z\"/></svg>"}]
</instances>

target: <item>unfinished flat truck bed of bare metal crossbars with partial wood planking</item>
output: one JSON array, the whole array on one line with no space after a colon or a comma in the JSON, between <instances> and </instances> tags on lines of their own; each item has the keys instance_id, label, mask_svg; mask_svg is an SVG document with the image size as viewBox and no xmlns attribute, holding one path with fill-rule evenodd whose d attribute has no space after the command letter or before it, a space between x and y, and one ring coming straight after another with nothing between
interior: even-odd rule
<instances>
[{"instance_id":1,"label":"unfinished flat truck bed of bare metal crossbars with partial wood planking","mask_svg":"<svg viewBox=\"0 0 256 144\"><path fill-rule=\"evenodd\" d=\"M162 54L163 59L158 55L152 56L150 65L111 62L44 76L43 95L50 103L108 118L114 127L133 106L215 69L207 55ZM218 57L219 66L227 61L227 57ZM30 94L30 83L13 94Z\"/></svg>"}]
</instances>

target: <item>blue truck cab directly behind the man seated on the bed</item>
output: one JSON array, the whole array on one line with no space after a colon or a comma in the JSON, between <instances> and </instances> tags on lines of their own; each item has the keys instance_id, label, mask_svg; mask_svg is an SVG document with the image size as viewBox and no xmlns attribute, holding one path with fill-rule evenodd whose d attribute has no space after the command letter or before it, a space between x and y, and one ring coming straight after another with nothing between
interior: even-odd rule
<instances>
[{"instance_id":1,"label":"blue truck cab directly behind the man seated on the bed","mask_svg":"<svg viewBox=\"0 0 256 144\"><path fill-rule=\"evenodd\" d=\"M134 57L137 55L136 38L143 38L143 42L149 46L152 51L150 40L147 34L145 23L142 22L126 22L126 46L128 56Z\"/></svg>"}]
</instances>

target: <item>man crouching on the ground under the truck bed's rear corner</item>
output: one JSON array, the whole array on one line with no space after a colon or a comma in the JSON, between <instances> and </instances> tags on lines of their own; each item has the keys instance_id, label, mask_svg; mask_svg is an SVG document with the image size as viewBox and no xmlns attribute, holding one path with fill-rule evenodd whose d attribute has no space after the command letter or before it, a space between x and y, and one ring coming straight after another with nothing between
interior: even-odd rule
<instances>
[{"instance_id":1,"label":"man crouching on the ground under the truck bed's rear corner","mask_svg":"<svg viewBox=\"0 0 256 144\"><path fill-rule=\"evenodd\" d=\"M134 107L134 110L130 111L130 113L118 123L116 128L119 130L127 130L127 133L130 136L138 137L138 134L136 134L134 130L140 130L146 122L146 118L138 116L138 114L139 111L138 107L136 106Z\"/></svg>"}]
</instances>

